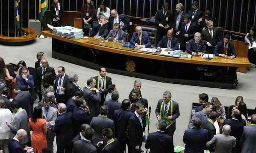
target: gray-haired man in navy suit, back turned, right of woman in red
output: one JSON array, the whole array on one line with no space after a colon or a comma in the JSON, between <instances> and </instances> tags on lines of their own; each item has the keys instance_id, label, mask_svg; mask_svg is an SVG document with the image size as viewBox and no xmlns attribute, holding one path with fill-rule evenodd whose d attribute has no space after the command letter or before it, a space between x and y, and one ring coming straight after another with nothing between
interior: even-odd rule
<instances>
[{"instance_id":1,"label":"gray-haired man in navy suit, back turned, right of woman in red","mask_svg":"<svg viewBox=\"0 0 256 153\"><path fill-rule=\"evenodd\" d=\"M56 133L57 153L71 153L74 133L72 130L72 113L66 113L67 107L64 103L58 104L59 115L52 125L52 131Z\"/></svg>"}]
</instances>

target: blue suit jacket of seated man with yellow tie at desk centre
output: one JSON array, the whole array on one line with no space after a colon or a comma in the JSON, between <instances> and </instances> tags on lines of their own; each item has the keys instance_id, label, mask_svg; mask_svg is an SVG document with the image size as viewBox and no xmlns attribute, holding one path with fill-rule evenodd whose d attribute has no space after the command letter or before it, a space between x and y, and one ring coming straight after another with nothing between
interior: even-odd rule
<instances>
[{"instance_id":1,"label":"blue suit jacket of seated man with yellow tie at desk centre","mask_svg":"<svg viewBox=\"0 0 256 153\"><path fill-rule=\"evenodd\" d=\"M130 39L130 43L132 45L135 45L136 43L140 44L140 40L139 40L138 34L136 32L133 32L132 38ZM142 31L141 45L145 45L146 48L151 47L151 40L150 40L150 37L147 32Z\"/></svg>"}]
</instances>

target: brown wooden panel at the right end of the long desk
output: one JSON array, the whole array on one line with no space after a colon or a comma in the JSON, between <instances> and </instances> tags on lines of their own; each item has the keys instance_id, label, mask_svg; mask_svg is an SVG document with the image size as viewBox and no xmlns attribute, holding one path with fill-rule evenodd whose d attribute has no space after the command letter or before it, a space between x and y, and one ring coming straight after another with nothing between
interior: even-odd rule
<instances>
[{"instance_id":1,"label":"brown wooden panel at the right end of the long desk","mask_svg":"<svg viewBox=\"0 0 256 153\"><path fill-rule=\"evenodd\" d=\"M248 57L248 43L240 42L237 40L230 40L230 42L234 43L235 51L237 56L240 57ZM239 67L237 72L246 73L246 67Z\"/></svg>"}]
</instances>

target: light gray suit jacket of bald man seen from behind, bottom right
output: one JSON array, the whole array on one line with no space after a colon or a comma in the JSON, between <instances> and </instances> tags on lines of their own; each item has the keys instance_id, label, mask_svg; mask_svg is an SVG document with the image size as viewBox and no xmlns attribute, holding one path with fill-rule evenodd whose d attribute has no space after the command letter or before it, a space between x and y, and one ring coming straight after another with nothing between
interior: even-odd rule
<instances>
[{"instance_id":1,"label":"light gray suit jacket of bald man seen from behind, bottom right","mask_svg":"<svg viewBox=\"0 0 256 153\"><path fill-rule=\"evenodd\" d=\"M215 153L231 153L232 147L236 146L236 138L225 134L217 134L206 143L208 148L213 145L215 146Z\"/></svg>"}]
</instances>

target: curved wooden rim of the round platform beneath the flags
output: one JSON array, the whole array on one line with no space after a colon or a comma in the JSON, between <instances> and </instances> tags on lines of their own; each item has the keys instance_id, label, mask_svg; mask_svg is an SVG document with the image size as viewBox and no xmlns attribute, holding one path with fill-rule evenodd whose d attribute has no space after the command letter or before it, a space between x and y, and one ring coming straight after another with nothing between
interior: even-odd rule
<instances>
[{"instance_id":1,"label":"curved wooden rim of the round platform beneath the flags","mask_svg":"<svg viewBox=\"0 0 256 153\"><path fill-rule=\"evenodd\" d=\"M27 36L22 37L8 37L0 34L0 41L2 42L27 42L36 39L36 31L31 28L21 28L23 31L28 33Z\"/></svg>"}]
</instances>

